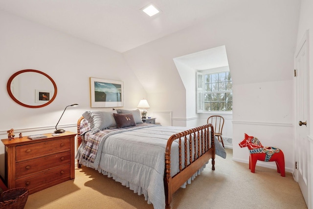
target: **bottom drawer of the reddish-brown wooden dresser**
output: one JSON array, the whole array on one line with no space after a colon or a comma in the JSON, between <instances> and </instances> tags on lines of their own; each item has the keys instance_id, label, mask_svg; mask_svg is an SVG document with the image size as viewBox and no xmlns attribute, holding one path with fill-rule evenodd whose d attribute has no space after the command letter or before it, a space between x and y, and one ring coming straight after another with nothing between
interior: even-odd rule
<instances>
[{"instance_id":1,"label":"bottom drawer of the reddish-brown wooden dresser","mask_svg":"<svg viewBox=\"0 0 313 209\"><path fill-rule=\"evenodd\" d=\"M26 186L30 193L34 190L41 190L52 185L70 180L70 165L54 167L36 175L23 177L16 180L16 187Z\"/></svg>"}]
</instances>

